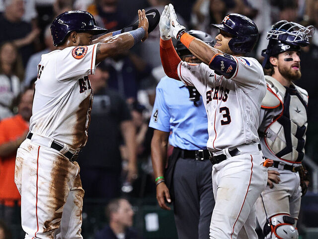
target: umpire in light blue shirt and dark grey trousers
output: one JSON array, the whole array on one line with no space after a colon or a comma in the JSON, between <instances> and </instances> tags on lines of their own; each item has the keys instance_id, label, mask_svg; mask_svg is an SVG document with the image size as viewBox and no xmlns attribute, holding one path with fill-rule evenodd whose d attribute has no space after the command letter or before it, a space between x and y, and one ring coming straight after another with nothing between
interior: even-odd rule
<instances>
[{"instance_id":1,"label":"umpire in light blue shirt and dark grey trousers","mask_svg":"<svg viewBox=\"0 0 318 239\"><path fill-rule=\"evenodd\" d=\"M210 45L213 43L205 32L191 30L188 33ZM180 42L176 44L176 51L183 61L201 63ZM155 129L151 155L157 200L162 209L170 210L165 201L170 203L172 199L179 239L209 238L215 201L212 165L206 147L207 124L207 114L197 90L163 77L156 89L149 123ZM168 141L174 148L165 169Z\"/></svg>"}]
</instances>

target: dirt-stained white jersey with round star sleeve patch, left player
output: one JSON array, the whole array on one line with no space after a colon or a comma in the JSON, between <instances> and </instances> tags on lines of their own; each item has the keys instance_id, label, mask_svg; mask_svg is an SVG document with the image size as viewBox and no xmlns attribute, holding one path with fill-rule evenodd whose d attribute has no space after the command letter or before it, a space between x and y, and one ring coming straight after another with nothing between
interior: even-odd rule
<instances>
[{"instance_id":1,"label":"dirt-stained white jersey with round star sleeve patch, left player","mask_svg":"<svg viewBox=\"0 0 318 239\"><path fill-rule=\"evenodd\" d=\"M98 44L98 43L97 43ZM78 150L87 140L97 44L67 47L42 55L30 130Z\"/></svg>"}]
</instances>

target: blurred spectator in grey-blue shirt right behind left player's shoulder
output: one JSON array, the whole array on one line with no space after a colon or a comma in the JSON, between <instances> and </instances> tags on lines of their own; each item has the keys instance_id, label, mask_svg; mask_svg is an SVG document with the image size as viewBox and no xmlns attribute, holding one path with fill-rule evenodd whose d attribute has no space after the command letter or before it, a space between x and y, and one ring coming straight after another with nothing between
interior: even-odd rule
<instances>
[{"instance_id":1,"label":"blurred spectator in grey-blue shirt right behind left player's shoulder","mask_svg":"<svg viewBox=\"0 0 318 239\"><path fill-rule=\"evenodd\" d=\"M39 62L41 61L42 54L46 54L56 49L56 47L53 45L50 26L47 26L45 28L44 43L46 48L43 51L33 54L28 60L28 64L26 65L26 68L25 68L25 78L23 82L23 85L25 87L28 87L30 85L31 80L34 77L37 77L38 75L37 66Z\"/></svg>"}]
</instances>

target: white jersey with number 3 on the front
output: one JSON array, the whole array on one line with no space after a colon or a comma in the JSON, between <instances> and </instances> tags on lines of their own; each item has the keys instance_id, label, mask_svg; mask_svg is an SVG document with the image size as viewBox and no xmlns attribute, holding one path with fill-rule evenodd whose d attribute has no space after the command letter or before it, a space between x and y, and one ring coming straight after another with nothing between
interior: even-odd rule
<instances>
[{"instance_id":1,"label":"white jersey with number 3 on the front","mask_svg":"<svg viewBox=\"0 0 318 239\"><path fill-rule=\"evenodd\" d=\"M211 151L259 142L259 111L266 93L263 69L254 58L233 58L238 66L231 79L217 75L204 63L181 61L178 65L181 81L195 86L203 98Z\"/></svg>"}]
</instances>

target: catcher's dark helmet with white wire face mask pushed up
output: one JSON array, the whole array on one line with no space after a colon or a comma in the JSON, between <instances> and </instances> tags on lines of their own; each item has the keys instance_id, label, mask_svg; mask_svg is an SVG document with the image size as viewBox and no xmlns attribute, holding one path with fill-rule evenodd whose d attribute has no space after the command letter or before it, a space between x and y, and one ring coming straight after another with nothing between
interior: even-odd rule
<instances>
[{"instance_id":1,"label":"catcher's dark helmet with white wire face mask pushed up","mask_svg":"<svg viewBox=\"0 0 318 239\"><path fill-rule=\"evenodd\" d=\"M293 21L281 20L272 25L267 32L269 39L267 48L262 50L264 60L262 66L270 68L269 58L285 51L299 51L301 46L309 44L309 37L313 35L314 26L305 27Z\"/></svg>"}]
</instances>

